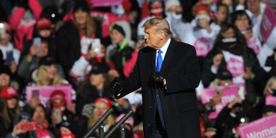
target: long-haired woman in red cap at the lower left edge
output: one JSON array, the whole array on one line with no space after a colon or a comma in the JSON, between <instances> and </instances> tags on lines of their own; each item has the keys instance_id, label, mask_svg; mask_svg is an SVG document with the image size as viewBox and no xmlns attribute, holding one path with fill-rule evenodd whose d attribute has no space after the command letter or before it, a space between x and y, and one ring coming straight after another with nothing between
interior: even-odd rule
<instances>
[{"instance_id":1,"label":"long-haired woman in red cap at the lower left edge","mask_svg":"<svg viewBox=\"0 0 276 138\"><path fill-rule=\"evenodd\" d=\"M0 96L0 137L5 137L8 132L12 131L13 120L20 109L16 89L13 87L3 88Z\"/></svg>"}]
</instances>

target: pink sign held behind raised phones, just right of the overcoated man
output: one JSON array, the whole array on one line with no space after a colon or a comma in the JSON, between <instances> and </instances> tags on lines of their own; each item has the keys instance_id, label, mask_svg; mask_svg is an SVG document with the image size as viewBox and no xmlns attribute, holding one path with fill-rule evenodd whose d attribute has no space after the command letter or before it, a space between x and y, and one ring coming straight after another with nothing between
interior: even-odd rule
<instances>
[{"instance_id":1,"label":"pink sign held behind raised phones, just right of the overcoated man","mask_svg":"<svg viewBox=\"0 0 276 138\"><path fill-rule=\"evenodd\" d=\"M238 94L238 88L244 87L244 83L237 83L237 84L231 84L229 85L228 89L225 89L224 86L218 86L218 87L210 87L201 90L200 99L202 104L206 104L214 97L214 93L216 89L222 90L221 95L221 103L215 105L215 111L210 112L209 118L215 119L218 114L221 112L221 110L233 99L235 99L236 95ZM244 89L244 95L246 95L246 90Z\"/></svg>"}]
</instances>

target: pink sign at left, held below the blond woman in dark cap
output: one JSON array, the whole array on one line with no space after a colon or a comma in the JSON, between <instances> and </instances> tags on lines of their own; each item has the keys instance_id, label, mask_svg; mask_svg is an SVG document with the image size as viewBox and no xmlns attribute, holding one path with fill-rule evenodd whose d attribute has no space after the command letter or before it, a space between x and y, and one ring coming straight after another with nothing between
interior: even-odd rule
<instances>
[{"instance_id":1,"label":"pink sign at left, held below the blond woman in dark cap","mask_svg":"<svg viewBox=\"0 0 276 138\"><path fill-rule=\"evenodd\" d=\"M27 86L26 87L26 96L27 102L32 98L33 91L39 91L39 100L44 107L46 107L47 111L50 111L50 95L55 90L61 90L65 94L66 104L69 106L72 104L72 86L71 85L63 85L63 86Z\"/></svg>"}]
</instances>

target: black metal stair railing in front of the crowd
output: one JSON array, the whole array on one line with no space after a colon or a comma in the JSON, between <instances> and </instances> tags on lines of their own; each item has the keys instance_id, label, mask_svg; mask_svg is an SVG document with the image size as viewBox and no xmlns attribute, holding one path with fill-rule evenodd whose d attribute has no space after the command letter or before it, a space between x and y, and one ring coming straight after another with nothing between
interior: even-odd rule
<instances>
[{"instance_id":1,"label":"black metal stair railing in front of the crowd","mask_svg":"<svg viewBox=\"0 0 276 138\"><path fill-rule=\"evenodd\" d=\"M120 137L125 138L125 128L124 122L133 114L133 110L129 110L127 114L125 114L115 125L110 129L108 133L104 136L104 120L110 116L110 114L114 111L114 108L109 108L103 116L89 129L89 131L83 136L83 138L88 138L91 133L93 133L97 128L99 128L99 138L108 138L110 137L116 129L120 129Z\"/></svg>"}]
</instances>

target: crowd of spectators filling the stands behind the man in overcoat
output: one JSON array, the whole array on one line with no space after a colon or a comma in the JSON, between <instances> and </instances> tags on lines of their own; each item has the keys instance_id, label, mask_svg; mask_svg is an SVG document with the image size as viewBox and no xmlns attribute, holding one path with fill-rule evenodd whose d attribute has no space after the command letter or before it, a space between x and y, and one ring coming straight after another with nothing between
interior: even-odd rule
<instances>
[{"instance_id":1,"label":"crowd of spectators filling the stands behind the man in overcoat","mask_svg":"<svg viewBox=\"0 0 276 138\"><path fill-rule=\"evenodd\" d=\"M115 99L110 82L130 76L138 51L147 47L142 25L154 17L168 21L173 39L196 49L202 138L238 138L237 127L276 113L265 104L276 96L276 27L266 39L260 32L265 9L276 14L276 0L120 2L0 1L0 138L82 137L110 107L105 133L132 109L126 137L143 138L141 89ZM244 83L246 96L237 94L208 118L222 95L202 104L202 89L237 83ZM39 94L27 98L27 87L64 85L72 86L72 102L61 90L49 92L49 110ZM99 131L90 136L99 137ZM120 137L119 130L112 137Z\"/></svg>"}]
</instances>

